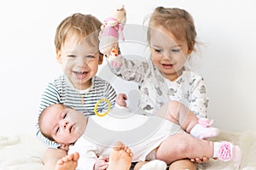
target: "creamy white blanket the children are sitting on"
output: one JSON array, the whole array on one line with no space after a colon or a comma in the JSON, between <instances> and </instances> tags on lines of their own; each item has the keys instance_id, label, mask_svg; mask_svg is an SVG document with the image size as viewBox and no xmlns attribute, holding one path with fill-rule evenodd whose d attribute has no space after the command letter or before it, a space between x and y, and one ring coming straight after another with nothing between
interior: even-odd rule
<instances>
[{"instance_id":1,"label":"creamy white blanket the children are sitting on","mask_svg":"<svg viewBox=\"0 0 256 170\"><path fill-rule=\"evenodd\" d=\"M241 170L256 170L256 132L222 132L213 140L239 144L243 152ZM34 134L0 136L0 170L39 170L43 167L46 145ZM198 165L199 170L234 170L233 162L211 160Z\"/></svg>"}]
</instances>

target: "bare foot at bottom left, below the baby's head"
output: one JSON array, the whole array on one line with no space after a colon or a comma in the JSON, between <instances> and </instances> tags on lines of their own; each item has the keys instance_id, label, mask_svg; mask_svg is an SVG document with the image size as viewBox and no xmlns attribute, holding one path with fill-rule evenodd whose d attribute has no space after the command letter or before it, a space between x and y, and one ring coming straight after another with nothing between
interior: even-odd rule
<instances>
[{"instance_id":1,"label":"bare foot at bottom left, below the baby's head","mask_svg":"<svg viewBox=\"0 0 256 170\"><path fill-rule=\"evenodd\" d=\"M79 153L75 152L57 161L55 170L75 170L78 167Z\"/></svg>"}]
</instances>

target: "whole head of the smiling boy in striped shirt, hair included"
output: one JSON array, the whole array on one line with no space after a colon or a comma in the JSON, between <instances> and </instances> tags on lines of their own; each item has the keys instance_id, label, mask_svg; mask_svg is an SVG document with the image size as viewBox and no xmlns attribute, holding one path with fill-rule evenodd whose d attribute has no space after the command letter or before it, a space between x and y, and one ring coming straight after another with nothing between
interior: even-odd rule
<instances>
[{"instance_id":1,"label":"whole head of the smiling boy in striped shirt, hair included","mask_svg":"<svg viewBox=\"0 0 256 170\"><path fill-rule=\"evenodd\" d=\"M73 14L55 32L56 58L74 88L90 87L103 55L99 52L101 21L90 14Z\"/></svg>"}]
</instances>

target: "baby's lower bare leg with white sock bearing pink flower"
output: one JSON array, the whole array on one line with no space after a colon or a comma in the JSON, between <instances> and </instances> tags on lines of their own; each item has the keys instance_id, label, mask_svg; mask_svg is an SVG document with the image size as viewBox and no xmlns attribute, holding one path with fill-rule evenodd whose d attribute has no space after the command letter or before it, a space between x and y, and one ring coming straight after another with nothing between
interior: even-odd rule
<instances>
[{"instance_id":1,"label":"baby's lower bare leg with white sock bearing pink flower","mask_svg":"<svg viewBox=\"0 0 256 170\"><path fill-rule=\"evenodd\" d=\"M241 151L236 145L229 142L212 142L203 139L195 139L187 133L177 133L168 137L155 150L155 158L171 164L173 161L185 158L213 158L218 157L222 161L240 161Z\"/></svg>"}]
</instances>

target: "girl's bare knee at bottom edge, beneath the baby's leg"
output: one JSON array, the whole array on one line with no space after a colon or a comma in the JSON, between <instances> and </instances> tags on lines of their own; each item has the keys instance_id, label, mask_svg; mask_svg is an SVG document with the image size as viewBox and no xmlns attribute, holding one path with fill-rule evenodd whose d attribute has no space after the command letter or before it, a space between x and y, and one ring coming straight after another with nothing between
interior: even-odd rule
<instances>
[{"instance_id":1,"label":"girl's bare knee at bottom edge, beneath the baby's leg","mask_svg":"<svg viewBox=\"0 0 256 170\"><path fill-rule=\"evenodd\" d=\"M172 162L169 167L169 170L196 170L195 162L192 162L188 159L178 160Z\"/></svg>"}]
</instances>

